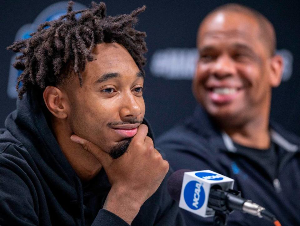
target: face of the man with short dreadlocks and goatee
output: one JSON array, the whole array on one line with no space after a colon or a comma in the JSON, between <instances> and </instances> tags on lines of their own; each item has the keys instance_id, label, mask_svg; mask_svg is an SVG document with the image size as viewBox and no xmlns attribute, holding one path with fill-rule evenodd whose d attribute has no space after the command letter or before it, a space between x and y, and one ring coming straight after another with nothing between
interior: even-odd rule
<instances>
[{"instance_id":1,"label":"face of the man with short dreadlocks and goatee","mask_svg":"<svg viewBox=\"0 0 300 226\"><path fill-rule=\"evenodd\" d=\"M116 43L98 44L95 60L68 84L71 131L116 158L126 151L143 121L144 78L128 51Z\"/></svg>"}]
</instances>

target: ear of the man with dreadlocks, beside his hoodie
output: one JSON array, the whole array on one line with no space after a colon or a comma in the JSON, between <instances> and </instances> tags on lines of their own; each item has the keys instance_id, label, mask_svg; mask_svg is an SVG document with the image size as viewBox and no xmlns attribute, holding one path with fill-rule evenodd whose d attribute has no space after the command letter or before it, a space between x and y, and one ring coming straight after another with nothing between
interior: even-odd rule
<instances>
[{"instance_id":1,"label":"ear of the man with dreadlocks, beside his hoodie","mask_svg":"<svg viewBox=\"0 0 300 226\"><path fill-rule=\"evenodd\" d=\"M62 90L55 86L47 86L43 92L43 98L48 110L59 119L68 117L68 98Z\"/></svg>"}]
</instances>

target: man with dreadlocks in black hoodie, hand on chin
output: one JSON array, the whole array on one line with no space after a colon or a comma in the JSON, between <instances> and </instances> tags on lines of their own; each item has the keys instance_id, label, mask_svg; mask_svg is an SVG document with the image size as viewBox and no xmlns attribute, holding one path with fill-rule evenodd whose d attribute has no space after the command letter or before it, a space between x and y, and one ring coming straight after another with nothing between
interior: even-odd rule
<instances>
[{"instance_id":1,"label":"man with dreadlocks in black hoodie, hand on chin","mask_svg":"<svg viewBox=\"0 0 300 226\"><path fill-rule=\"evenodd\" d=\"M104 3L72 4L8 47L23 72L0 133L0 224L183 225L144 119L147 48L133 26L145 7L106 17Z\"/></svg>"}]
</instances>

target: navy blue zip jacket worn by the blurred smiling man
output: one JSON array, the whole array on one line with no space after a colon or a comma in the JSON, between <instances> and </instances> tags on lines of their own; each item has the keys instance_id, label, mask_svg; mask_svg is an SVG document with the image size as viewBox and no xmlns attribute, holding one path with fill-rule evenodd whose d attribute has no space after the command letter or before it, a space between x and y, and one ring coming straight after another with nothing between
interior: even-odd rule
<instances>
[{"instance_id":1,"label":"navy blue zip jacket worn by the blurred smiling man","mask_svg":"<svg viewBox=\"0 0 300 226\"><path fill-rule=\"evenodd\" d=\"M272 141L283 153L274 178L251 159L237 153L230 137L217 129L200 106L183 125L159 137L157 146L165 152L174 171L210 169L231 177L235 180L234 189L241 191L242 197L275 214L282 226L300 225L300 138L272 122L270 131ZM182 212L187 225L212 225L212 218ZM273 224L235 211L229 215L228 225Z\"/></svg>"}]
</instances>

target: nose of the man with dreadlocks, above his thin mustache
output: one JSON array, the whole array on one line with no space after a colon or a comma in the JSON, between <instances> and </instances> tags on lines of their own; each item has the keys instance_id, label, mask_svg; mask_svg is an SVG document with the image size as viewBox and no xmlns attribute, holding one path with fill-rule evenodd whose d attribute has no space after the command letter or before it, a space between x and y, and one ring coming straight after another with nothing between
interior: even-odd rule
<instances>
[{"instance_id":1,"label":"nose of the man with dreadlocks, above his thin mustache","mask_svg":"<svg viewBox=\"0 0 300 226\"><path fill-rule=\"evenodd\" d=\"M137 97L132 93L124 95L121 103L120 117L121 119L126 120L127 118L135 118L142 113L140 103L138 102Z\"/></svg>"}]
</instances>

